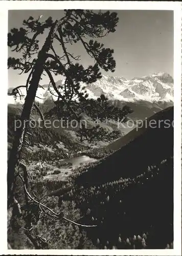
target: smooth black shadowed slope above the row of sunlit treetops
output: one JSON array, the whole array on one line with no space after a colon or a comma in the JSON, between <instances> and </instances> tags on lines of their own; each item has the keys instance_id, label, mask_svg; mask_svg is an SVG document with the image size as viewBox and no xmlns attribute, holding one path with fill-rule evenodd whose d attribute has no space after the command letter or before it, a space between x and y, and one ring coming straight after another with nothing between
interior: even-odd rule
<instances>
[{"instance_id":1,"label":"smooth black shadowed slope above the row of sunlit treetops","mask_svg":"<svg viewBox=\"0 0 182 256\"><path fill-rule=\"evenodd\" d=\"M103 159L97 166L90 168L88 172L81 174L77 178L77 182L92 185L121 177L135 177L142 174L148 166L158 164L172 156L173 107L156 113L148 119L148 123L150 120L156 121L156 128L147 125L147 127L140 128L139 131L131 131L128 135L128 144ZM164 120L168 120L170 125L165 125ZM125 137L120 139L120 145L122 140L125 140ZM126 141L125 143L127 143Z\"/></svg>"}]
</instances>

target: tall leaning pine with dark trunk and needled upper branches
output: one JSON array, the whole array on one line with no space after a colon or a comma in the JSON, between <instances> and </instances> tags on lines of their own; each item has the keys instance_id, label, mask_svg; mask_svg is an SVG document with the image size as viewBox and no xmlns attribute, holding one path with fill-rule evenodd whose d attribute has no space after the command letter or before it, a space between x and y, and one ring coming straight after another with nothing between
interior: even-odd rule
<instances>
[{"instance_id":1,"label":"tall leaning pine with dark trunk and needled upper branches","mask_svg":"<svg viewBox=\"0 0 182 256\"><path fill-rule=\"evenodd\" d=\"M43 74L49 76L50 83L54 88L55 95L59 103L66 104L70 113L77 117L77 113L72 108L70 102L74 97L82 100L88 95L84 88L80 91L80 82L92 83L101 78L100 68L105 71L115 71L116 62L113 59L113 50L105 48L103 44L95 40L108 33L116 31L118 23L117 13L109 11L102 13L92 10L64 10L64 17L53 21L49 17L45 22L40 22L40 18L34 19L30 16L23 21L24 28L12 29L8 34L8 46L15 52L21 53L21 58L8 59L8 68L18 69L21 73L29 73L24 108L21 113L21 126L17 129L12 150L8 161L8 205L13 199L15 184L15 166L20 159L22 145L25 139L27 127L30 121L32 108L38 109L35 104L36 92L40 87L40 79ZM41 49L37 36L48 30L49 34ZM85 38L93 38L87 41ZM56 53L54 42L58 41L63 55ZM95 64L84 68L78 61L80 56L74 56L66 49L66 44L76 44L81 42L87 54L95 59ZM36 56L36 57L35 57ZM56 87L52 74L59 74L65 77L65 82L59 89ZM15 97L22 97L21 87L14 88L12 93ZM50 90L51 92L51 90ZM59 104L58 104L58 111ZM40 111L39 111L40 113Z\"/></svg>"}]
</instances>

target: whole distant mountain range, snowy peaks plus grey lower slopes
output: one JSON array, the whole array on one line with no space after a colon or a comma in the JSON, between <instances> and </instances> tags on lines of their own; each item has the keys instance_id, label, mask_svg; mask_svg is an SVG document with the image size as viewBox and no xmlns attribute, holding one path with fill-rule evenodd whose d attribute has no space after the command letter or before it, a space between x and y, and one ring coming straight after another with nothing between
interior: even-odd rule
<instances>
[{"instance_id":1,"label":"whole distant mountain range, snowy peaks plus grey lower slopes","mask_svg":"<svg viewBox=\"0 0 182 256\"><path fill-rule=\"evenodd\" d=\"M56 86L60 86L62 82L62 80L58 80ZM167 73L159 72L151 76L134 77L131 80L103 75L95 83L81 84L81 86L86 87L89 98L97 98L104 94L108 97L111 105L121 109L124 105L127 105L133 110L133 113L128 115L128 119L134 121L134 125L131 127L118 127L117 123L110 121L108 123L100 123L104 129L110 132L119 128L123 135L126 135L136 127L137 120L145 120L145 118L173 106L173 78ZM49 84L44 84L42 87L43 89L38 88L37 90L36 95L38 97L36 100L40 103L42 113L46 114L54 108L55 104L48 89ZM24 91L23 89L25 88L22 88L21 92L26 95L26 90ZM11 90L9 89L10 92ZM20 115L24 101L20 101L19 98L15 101L13 96L9 96L8 102L8 113ZM37 113L35 111L32 112L33 116L36 119ZM86 120L89 121L87 117ZM93 126L95 123L91 122L90 125ZM73 131L67 132L69 132L69 136L75 139Z\"/></svg>"}]
</instances>

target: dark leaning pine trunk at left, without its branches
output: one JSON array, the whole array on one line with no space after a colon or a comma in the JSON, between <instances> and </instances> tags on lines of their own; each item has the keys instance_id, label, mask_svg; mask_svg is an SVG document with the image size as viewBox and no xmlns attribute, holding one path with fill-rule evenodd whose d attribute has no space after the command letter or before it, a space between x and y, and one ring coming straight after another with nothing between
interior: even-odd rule
<instances>
[{"instance_id":1,"label":"dark leaning pine trunk at left, without its branches","mask_svg":"<svg viewBox=\"0 0 182 256\"><path fill-rule=\"evenodd\" d=\"M32 110L32 106L34 104L38 84L43 73L43 65L47 59L47 53L50 50L51 44L53 42L53 38L59 26L59 22L56 20L54 26L50 29L49 35L46 38L42 49L38 53L38 57L34 66L34 71L32 73L32 79L30 81L30 87L28 89L28 93L25 99L24 108L20 117L21 126L17 129L12 150L10 152L10 157L8 161L8 207L12 203L12 196L14 190L14 182L15 182L15 166L20 157L20 151L22 148L22 144L24 141L24 137L26 134L26 127L29 124L30 113Z\"/></svg>"}]
</instances>

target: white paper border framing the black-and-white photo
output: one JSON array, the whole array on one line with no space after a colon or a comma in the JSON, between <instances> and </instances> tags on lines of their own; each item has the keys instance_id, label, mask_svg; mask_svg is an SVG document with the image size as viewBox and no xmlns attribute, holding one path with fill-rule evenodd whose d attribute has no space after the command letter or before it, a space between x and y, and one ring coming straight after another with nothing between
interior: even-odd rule
<instances>
[{"instance_id":1,"label":"white paper border framing the black-and-white photo","mask_svg":"<svg viewBox=\"0 0 182 256\"><path fill-rule=\"evenodd\" d=\"M7 249L7 33L8 10L173 10L174 12L174 249L143 250L8 250ZM181 255L181 2L1 1L1 254L31 255ZM6 85L6 86L5 86ZM6 135L6 136L5 136Z\"/></svg>"}]
</instances>

